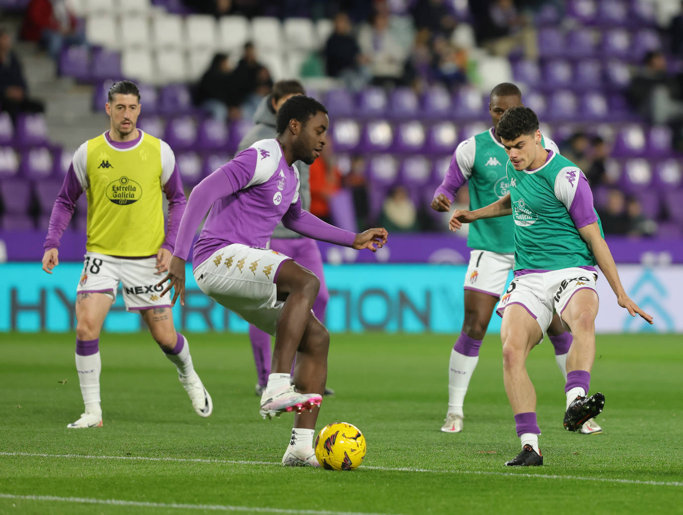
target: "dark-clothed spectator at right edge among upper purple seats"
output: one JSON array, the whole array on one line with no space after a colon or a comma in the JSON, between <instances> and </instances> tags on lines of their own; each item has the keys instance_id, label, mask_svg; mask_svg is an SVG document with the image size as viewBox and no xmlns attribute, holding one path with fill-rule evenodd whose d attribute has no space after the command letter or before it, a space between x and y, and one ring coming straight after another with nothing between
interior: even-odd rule
<instances>
[{"instance_id":1,"label":"dark-clothed spectator at right edge among upper purple seats","mask_svg":"<svg viewBox=\"0 0 683 515\"><path fill-rule=\"evenodd\" d=\"M667 70L667 58L660 51L645 55L643 66L628 86L628 98L638 113L654 124L666 124L683 117L682 89Z\"/></svg>"}]
</instances>

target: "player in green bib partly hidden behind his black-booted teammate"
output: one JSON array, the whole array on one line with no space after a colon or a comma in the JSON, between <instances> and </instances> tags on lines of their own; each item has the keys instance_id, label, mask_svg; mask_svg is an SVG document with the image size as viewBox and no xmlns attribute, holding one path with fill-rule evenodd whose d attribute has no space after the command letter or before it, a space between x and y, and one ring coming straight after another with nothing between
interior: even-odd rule
<instances>
[{"instance_id":1,"label":"player in green bib partly hidden behind his black-booted teammate","mask_svg":"<svg viewBox=\"0 0 683 515\"><path fill-rule=\"evenodd\" d=\"M458 189L468 183L471 210L488 206L507 194L510 186L505 173L507 154L497 135L497 126L505 109L519 105L522 105L522 94L516 85L502 83L492 89L488 105L492 127L458 145L446 176L434 193L432 209L448 211ZM559 153L550 139L542 137L541 145ZM443 432L462 431L462 406L479 361L479 347L493 309L505 292L510 270L514 268L513 227L512 217L505 217L482 220L470 228L467 245L472 251L463 286L464 320L451 350L448 411L441 427ZM556 316L548 327L548 336L555 348L557 365L566 378L565 363L572 335L565 331ZM589 420L580 431L591 434L601 432L602 428Z\"/></svg>"}]
</instances>

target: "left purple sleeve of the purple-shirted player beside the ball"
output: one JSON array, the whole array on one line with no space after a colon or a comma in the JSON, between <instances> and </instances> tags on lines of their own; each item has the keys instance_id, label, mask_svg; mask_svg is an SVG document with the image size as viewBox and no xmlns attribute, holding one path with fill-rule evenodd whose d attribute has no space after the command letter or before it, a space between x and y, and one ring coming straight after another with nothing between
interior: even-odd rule
<instances>
[{"instance_id":1,"label":"left purple sleeve of the purple-shirted player beside the ball","mask_svg":"<svg viewBox=\"0 0 683 515\"><path fill-rule=\"evenodd\" d=\"M253 152L248 152L249 150ZM192 238L209 208L218 199L229 197L249 184L254 175L255 152L255 149L240 152L232 161L225 163L195 186L180 219L173 255L187 260Z\"/></svg>"}]
</instances>

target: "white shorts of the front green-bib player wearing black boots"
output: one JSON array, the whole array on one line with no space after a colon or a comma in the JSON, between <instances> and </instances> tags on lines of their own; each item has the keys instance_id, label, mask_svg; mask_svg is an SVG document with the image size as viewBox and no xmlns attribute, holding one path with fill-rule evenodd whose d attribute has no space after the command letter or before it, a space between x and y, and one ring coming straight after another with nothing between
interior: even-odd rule
<instances>
[{"instance_id":1,"label":"white shorts of the front green-bib player wearing black boots","mask_svg":"<svg viewBox=\"0 0 683 515\"><path fill-rule=\"evenodd\" d=\"M553 311L559 315L579 290L596 290L598 273L584 268L561 268L549 272L530 273L516 277L507 288L496 308L503 310L512 304L524 307L535 318L542 332L546 332L553 320Z\"/></svg>"}]
</instances>

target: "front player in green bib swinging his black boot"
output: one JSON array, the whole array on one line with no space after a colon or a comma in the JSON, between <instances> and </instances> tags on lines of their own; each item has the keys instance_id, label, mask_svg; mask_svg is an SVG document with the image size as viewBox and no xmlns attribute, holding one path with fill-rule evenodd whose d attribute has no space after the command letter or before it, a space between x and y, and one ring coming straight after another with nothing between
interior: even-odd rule
<instances>
[{"instance_id":1,"label":"front player in green bib swinging his black boot","mask_svg":"<svg viewBox=\"0 0 683 515\"><path fill-rule=\"evenodd\" d=\"M583 172L541 145L538 117L528 107L507 109L498 134L510 161L510 193L484 208L456 210L452 230L479 219L514 220L515 279L501 298L497 313L503 317L503 383L512 405L522 451L506 465L542 465L538 447L536 393L527 374L529 351L538 344L553 318L561 316L574 335L567 356L567 396L563 425L576 431L602 411L604 395L587 396L595 360L595 318L598 313L598 264L631 316L652 324L626 295L617 267L602 237L593 194Z\"/></svg>"}]
</instances>

